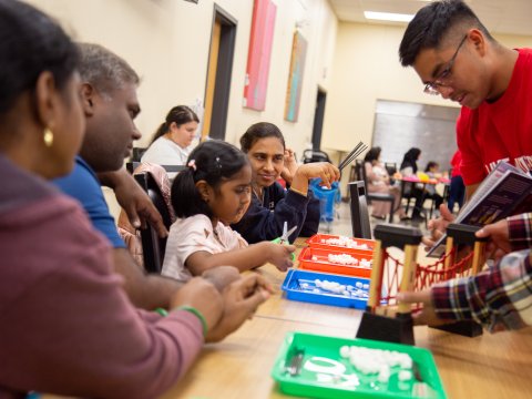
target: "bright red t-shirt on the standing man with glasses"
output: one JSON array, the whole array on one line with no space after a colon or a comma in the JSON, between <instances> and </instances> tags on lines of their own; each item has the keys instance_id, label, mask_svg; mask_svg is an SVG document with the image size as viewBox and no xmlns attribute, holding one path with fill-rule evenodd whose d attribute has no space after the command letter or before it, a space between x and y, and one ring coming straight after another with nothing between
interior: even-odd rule
<instances>
[{"instance_id":1,"label":"bright red t-shirt on the standing man with glasses","mask_svg":"<svg viewBox=\"0 0 532 399\"><path fill-rule=\"evenodd\" d=\"M512 79L494 103L462 106L457 142L466 185L477 184L499 161L532 171L532 49L519 49Z\"/></svg>"}]
</instances>

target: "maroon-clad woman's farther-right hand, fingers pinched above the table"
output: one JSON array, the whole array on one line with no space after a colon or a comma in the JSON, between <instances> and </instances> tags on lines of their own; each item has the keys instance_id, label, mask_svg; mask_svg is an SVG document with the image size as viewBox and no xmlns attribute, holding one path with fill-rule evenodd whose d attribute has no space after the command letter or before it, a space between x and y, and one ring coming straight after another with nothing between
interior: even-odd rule
<instances>
[{"instance_id":1,"label":"maroon-clad woman's farther-right hand, fingers pinched above the table","mask_svg":"<svg viewBox=\"0 0 532 399\"><path fill-rule=\"evenodd\" d=\"M272 287L263 276L253 273L228 285L223 293L224 313L221 320L212 328L206 340L216 342L250 319L257 307L269 298Z\"/></svg>"}]
</instances>

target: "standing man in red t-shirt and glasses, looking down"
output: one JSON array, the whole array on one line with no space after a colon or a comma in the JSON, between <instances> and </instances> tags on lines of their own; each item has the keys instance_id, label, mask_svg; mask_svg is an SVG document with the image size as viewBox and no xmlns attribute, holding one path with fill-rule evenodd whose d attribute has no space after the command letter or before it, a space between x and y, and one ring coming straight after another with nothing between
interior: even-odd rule
<instances>
[{"instance_id":1,"label":"standing man in red t-shirt and glasses, looking down","mask_svg":"<svg viewBox=\"0 0 532 399\"><path fill-rule=\"evenodd\" d=\"M532 50L497 42L461 0L434 1L409 23L399 48L424 92L462 105L457 142L470 197L501 160L532 170ZM447 206L434 233L453 219ZM431 244L427 242L427 244Z\"/></svg>"}]
</instances>

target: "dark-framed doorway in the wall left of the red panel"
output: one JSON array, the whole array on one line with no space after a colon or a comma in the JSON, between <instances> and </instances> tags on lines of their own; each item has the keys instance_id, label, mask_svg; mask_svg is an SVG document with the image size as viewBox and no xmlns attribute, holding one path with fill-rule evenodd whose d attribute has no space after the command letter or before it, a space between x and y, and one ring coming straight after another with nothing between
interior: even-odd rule
<instances>
[{"instance_id":1,"label":"dark-framed doorway in the wall left of the red panel","mask_svg":"<svg viewBox=\"0 0 532 399\"><path fill-rule=\"evenodd\" d=\"M236 20L214 4L202 141L225 139L235 40Z\"/></svg>"}]
</instances>

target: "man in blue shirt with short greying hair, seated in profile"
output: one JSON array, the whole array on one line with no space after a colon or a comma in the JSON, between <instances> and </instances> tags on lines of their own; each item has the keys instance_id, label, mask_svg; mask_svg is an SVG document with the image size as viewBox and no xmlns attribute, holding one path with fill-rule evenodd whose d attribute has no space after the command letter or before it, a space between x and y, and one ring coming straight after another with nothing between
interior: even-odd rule
<instances>
[{"instance_id":1,"label":"man in blue shirt with short greying hair, seated in profile","mask_svg":"<svg viewBox=\"0 0 532 399\"><path fill-rule=\"evenodd\" d=\"M103 196L101 184L114 190L135 227L152 223L160 235L167 234L150 197L124 170L133 141L141 137L134 124L141 108L136 98L139 75L120 57L96 44L80 44L82 104L86 117L85 136L73 172L55 184L85 208L94 227L113 246L115 270L125 278L124 289L139 307L167 307L180 283L146 275L120 237Z\"/></svg>"}]
</instances>

